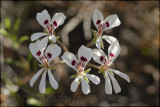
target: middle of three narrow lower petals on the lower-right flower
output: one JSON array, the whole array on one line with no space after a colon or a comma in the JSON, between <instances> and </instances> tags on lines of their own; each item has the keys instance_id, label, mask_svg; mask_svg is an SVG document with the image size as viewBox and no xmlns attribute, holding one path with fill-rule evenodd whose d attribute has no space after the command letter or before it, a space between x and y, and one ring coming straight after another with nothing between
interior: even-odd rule
<instances>
[{"instance_id":1,"label":"middle of three narrow lower petals on the lower-right flower","mask_svg":"<svg viewBox=\"0 0 160 107\"><path fill-rule=\"evenodd\" d=\"M111 78L115 93L119 93L121 91L121 87L119 86L117 80L114 78L114 76L110 72L108 72L108 74L109 74L109 77Z\"/></svg>"}]
</instances>

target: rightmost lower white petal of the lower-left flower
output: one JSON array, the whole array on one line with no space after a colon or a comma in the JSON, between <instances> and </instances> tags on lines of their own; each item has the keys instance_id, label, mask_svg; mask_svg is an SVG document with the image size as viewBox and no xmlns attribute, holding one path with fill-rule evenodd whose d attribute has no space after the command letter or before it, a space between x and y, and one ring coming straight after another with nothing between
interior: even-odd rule
<instances>
[{"instance_id":1,"label":"rightmost lower white petal of the lower-left flower","mask_svg":"<svg viewBox=\"0 0 160 107\"><path fill-rule=\"evenodd\" d=\"M57 81L54 79L54 77L53 77L50 69L48 69L48 76L49 76L49 82L50 82L51 86L52 86L54 89L57 89L57 88L58 88L58 83L57 83Z\"/></svg>"}]
</instances>

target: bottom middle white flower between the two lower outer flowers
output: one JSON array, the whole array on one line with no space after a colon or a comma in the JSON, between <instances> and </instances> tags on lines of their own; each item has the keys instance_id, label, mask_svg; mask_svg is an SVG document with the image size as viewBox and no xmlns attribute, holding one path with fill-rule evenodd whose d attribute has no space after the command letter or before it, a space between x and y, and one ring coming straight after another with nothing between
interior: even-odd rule
<instances>
[{"instance_id":1,"label":"bottom middle white flower between the two lower outer flowers","mask_svg":"<svg viewBox=\"0 0 160 107\"><path fill-rule=\"evenodd\" d=\"M78 50L78 59L76 56L70 52L65 52L61 57L64 62L73 69L77 71L76 75L71 76L75 78L75 80L71 84L71 91L75 92L77 90L78 85L81 83L82 85L82 92L84 94L88 94L90 92L89 80L90 79L93 83L99 84L100 79L99 77L93 74L87 74L90 69L84 70L87 63L91 60L93 55L93 51L90 48L86 48L85 46L81 46Z\"/></svg>"}]
</instances>

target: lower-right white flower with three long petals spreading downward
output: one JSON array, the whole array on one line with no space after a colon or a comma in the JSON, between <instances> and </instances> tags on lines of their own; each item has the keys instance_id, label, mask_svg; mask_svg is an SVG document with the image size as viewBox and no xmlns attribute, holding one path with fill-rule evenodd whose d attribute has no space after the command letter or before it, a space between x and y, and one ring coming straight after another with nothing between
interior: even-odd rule
<instances>
[{"instance_id":1,"label":"lower-right white flower with three long petals spreading downward","mask_svg":"<svg viewBox=\"0 0 160 107\"><path fill-rule=\"evenodd\" d=\"M128 82L130 82L130 79L128 75L118 70L110 69L110 65L119 55L121 48L117 40L112 42L112 39L111 39L109 43L111 43L111 45L108 48L108 57L105 55L105 53L101 49L93 49L93 59L97 63L101 64L101 69L99 72L102 72L104 74L104 77L106 80L105 81L105 92L107 94L112 94L111 81L112 81L115 93L119 93L121 91L121 88L117 80L114 78L114 73L124 78Z\"/></svg>"}]
</instances>

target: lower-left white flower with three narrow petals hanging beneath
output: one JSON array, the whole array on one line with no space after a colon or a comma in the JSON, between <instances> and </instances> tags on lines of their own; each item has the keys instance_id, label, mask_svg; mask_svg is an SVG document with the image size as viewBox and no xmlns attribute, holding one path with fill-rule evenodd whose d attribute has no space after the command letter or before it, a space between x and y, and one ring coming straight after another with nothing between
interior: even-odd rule
<instances>
[{"instance_id":1,"label":"lower-left white flower with three narrow petals hanging beneath","mask_svg":"<svg viewBox=\"0 0 160 107\"><path fill-rule=\"evenodd\" d=\"M29 49L32 53L32 55L41 63L41 67L43 67L41 70L39 70L30 80L30 86L33 87L33 84L35 83L35 81L37 80L37 78L40 76L41 73L42 74L42 78L40 81L40 85L39 85L39 91L41 93L45 93L45 87L46 87L46 74L48 72L48 76L49 76L49 82L51 84L51 86L54 89L58 88L58 83L57 81L54 79L52 73L51 73L51 69L53 69L53 67L49 66L49 63L55 59L56 57L58 57L61 53L61 48L56 45L56 44L52 44L49 45L46 48L46 45L38 45L39 44L39 40L37 40L35 43L31 43L29 45ZM45 52L44 52L45 50Z\"/></svg>"}]
</instances>

